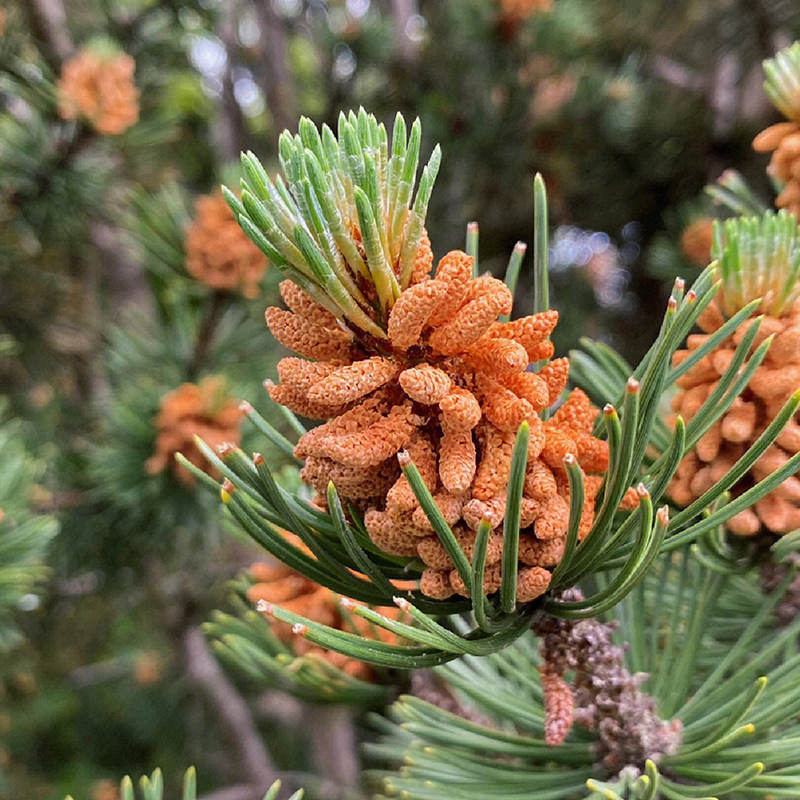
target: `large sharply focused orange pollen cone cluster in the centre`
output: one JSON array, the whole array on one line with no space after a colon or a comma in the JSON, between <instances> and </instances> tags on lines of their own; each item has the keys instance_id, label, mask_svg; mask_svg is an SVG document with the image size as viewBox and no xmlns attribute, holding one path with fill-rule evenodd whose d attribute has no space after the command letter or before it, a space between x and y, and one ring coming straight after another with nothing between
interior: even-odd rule
<instances>
[{"instance_id":1,"label":"large sharply focused orange pollen cone cluster in the centre","mask_svg":"<svg viewBox=\"0 0 800 800\"><path fill-rule=\"evenodd\" d=\"M401 464L410 460L468 558L483 519L492 526L485 590L500 586L503 519L512 450L520 425L530 425L521 504L520 602L544 593L564 551L569 517L565 458L586 473L580 535L588 532L595 496L608 466L607 444L591 435L597 416L574 390L546 422L539 412L561 395L566 359L549 359L555 311L512 322L512 296L501 281L472 277L472 258L448 253L433 277L427 236L414 278L388 318L388 339L356 339L328 311L289 281L288 311L269 308L275 337L304 358L278 364L273 400L305 417L327 420L297 444L302 478L324 495L332 481L345 507L364 514L384 552L419 557L420 589L445 599L467 591L420 507ZM538 373L533 362L547 361Z\"/></svg>"}]
</instances>

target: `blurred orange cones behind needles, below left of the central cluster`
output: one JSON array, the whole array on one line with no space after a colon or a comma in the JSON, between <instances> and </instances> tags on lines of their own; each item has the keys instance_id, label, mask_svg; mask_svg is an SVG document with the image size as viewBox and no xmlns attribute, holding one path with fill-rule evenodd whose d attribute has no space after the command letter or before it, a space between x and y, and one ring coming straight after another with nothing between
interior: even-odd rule
<instances>
[{"instance_id":1,"label":"blurred orange cones behind needles, below left of the central cluster","mask_svg":"<svg viewBox=\"0 0 800 800\"><path fill-rule=\"evenodd\" d=\"M295 540L295 537L290 538ZM247 599L253 604L262 600L275 603L312 622L319 622L347 633L357 633L366 639L397 644L398 639L393 633L372 625L362 617L348 613L343 608L342 598L339 595L284 564L257 563L253 564L250 572L255 582L247 590ZM398 620L402 616L402 612L395 607L376 610L389 619ZM285 622L273 620L271 628L279 639L292 645L298 656L316 655L354 678L375 680L373 668L363 661L325 650L309 642L308 639L295 635L292 626Z\"/></svg>"}]
</instances>

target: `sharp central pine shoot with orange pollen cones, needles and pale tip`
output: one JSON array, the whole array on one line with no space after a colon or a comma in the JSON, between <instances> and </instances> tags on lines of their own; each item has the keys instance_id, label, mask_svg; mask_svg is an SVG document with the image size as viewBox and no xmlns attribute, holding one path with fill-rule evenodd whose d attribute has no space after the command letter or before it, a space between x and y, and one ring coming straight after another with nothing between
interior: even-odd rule
<instances>
[{"instance_id":1,"label":"sharp central pine shoot with orange pollen cones, needles and pale tip","mask_svg":"<svg viewBox=\"0 0 800 800\"><path fill-rule=\"evenodd\" d=\"M635 370L602 347L596 362L581 362L578 372L586 377L588 369L589 383L614 386L624 376L624 389L601 419L578 390L547 419L565 388L568 362L550 360L557 314L547 307L544 183L537 177L537 313L502 322L511 292L495 278L475 277L473 257L454 251L428 274L433 257L423 226L439 151L411 203L419 139L419 124L406 137L398 117L390 155L385 130L362 110L340 117L338 137L306 120L297 136L284 134L286 182L244 157L242 199L226 197L247 234L289 278L282 295L290 310L269 309L267 320L305 358L284 359L281 384L268 388L301 433L299 442L293 449L252 408L247 413L305 461L302 474L318 496L308 502L282 489L263 459L234 447L221 457L205 448L225 478L225 504L256 541L358 601L352 614L400 642L368 641L278 605L265 610L315 645L400 668L497 651L543 610L571 619L607 611L659 552L716 529L792 474L800 459L718 504L794 414L800 396L793 395L696 503L672 518L666 507L656 513L681 459L731 407L769 343L752 349L757 325L751 326L691 423L678 419L674 430L665 428L659 403L688 368L671 367L671 359L717 293L712 265L688 292L676 282L659 336ZM471 242L477 253L476 227ZM520 258L517 248L509 283ZM752 311L734 315L688 366ZM538 373L527 371L532 363ZM306 431L292 411L328 421ZM651 455L653 443L659 458ZM598 572L609 577L590 596L558 597ZM419 588L398 588L409 579ZM408 621L369 608L393 602ZM466 633L441 621L464 611L474 614Z\"/></svg>"}]
</instances>

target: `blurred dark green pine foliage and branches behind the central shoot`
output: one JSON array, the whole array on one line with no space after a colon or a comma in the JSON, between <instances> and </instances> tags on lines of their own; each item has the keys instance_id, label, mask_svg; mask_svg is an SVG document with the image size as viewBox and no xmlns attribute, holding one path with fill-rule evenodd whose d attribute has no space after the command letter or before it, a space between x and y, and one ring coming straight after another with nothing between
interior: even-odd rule
<instances>
[{"instance_id":1,"label":"blurred dark green pine foliage and branches behind the central shoot","mask_svg":"<svg viewBox=\"0 0 800 800\"><path fill-rule=\"evenodd\" d=\"M194 762L201 792L281 773L311 796L348 796L355 742L374 736L367 698L405 686L390 675L388 691L356 691L354 709L322 710L313 669L294 687L302 703L226 677L199 625L215 608L237 617L226 581L258 554L215 503L145 468L162 397L203 376L224 375L231 396L291 431L260 389L281 355L262 319L276 271L246 299L185 268L194 201L236 183L241 150L274 169L278 134L301 114L334 127L359 105L387 124L418 115L423 163L436 142L444 151L434 251L462 247L477 220L481 266L496 274L532 239L542 172L556 351L588 334L636 363L675 274L698 271L678 240L717 213L703 187L732 167L771 196L766 157L750 148L778 118L760 63L798 35L788 0L555 0L524 20L494 0L11 0L0 531L15 526L26 584L6 592L0 574L0 647L7 622L25 634L0 667L0 795L111 798L122 774L157 763L177 791ZM139 121L118 135L58 115L62 65L87 45L136 62ZM529 261L520 314L532 308ZM288 461L277 445L264 456ZM43 585L27 565L48 541ZM221 710L242 696L252 703L238 716Z\"/></svg>"}]
</instances>

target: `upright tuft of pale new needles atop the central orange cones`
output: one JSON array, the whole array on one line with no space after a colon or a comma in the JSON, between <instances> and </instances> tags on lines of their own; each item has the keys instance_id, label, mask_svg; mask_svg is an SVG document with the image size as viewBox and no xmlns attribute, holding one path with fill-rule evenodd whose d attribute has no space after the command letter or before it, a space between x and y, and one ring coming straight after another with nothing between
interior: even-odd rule
<instances>
[{"instance_id":1,"label":"upright tuft of pale new needles atop the central orange cones","mask_svg":"<svg viewBox=\"0 0 800 800\"><path fill-rule=\"evenodd\" d=\"M225 198L242 228L272 263L351 327L386 338L394 301L411 280L433 183L435 147L414 194L419 120L401 115L392 139L371 114L341 114L337 134L308 119L281 135L284 178L270 178L252 154L239 200Z\"/></svg>"}]
</instances>

